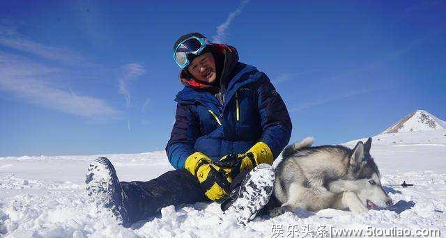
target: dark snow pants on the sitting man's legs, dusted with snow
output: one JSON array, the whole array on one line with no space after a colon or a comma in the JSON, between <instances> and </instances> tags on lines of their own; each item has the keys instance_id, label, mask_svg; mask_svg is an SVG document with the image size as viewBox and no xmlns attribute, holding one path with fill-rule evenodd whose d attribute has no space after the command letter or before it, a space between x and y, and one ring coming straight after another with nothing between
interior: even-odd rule
<instances>
[{"instance_id":1,"label":"dark snow pants on the sitting man's legs, dusted with snow","mask_svg":"<svg viewBox=\"0 0 446 238\"><path fill-rule=\"evenodd\" d=\"M247 171L233 178L231 191L240 188L246 175ZM171 170L147 182L121 182L121 186L128 196L130 221L125 223L129 225L156 216L169 205L212 202L204 195L197 178L186 170Z\"/></svg>"}]
</instances>

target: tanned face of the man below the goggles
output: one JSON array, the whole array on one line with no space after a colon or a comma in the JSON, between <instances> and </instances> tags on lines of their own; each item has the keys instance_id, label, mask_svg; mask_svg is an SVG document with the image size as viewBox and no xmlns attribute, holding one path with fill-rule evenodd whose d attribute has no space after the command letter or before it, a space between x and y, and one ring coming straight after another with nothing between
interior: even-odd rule
<instances>
[{"instance_id":1,"label":"tanned face of the man below the goggles","mask_svg":"<svg viewBox=\"0 0 446 238\"><path fill-rule=\"evenodd\" d=\"M187 70L192 76L199 80L212 84L217 78L217 70L215 70L215 58L212 53L206 52L187 66Z\"/></svg>"}]
</instances>

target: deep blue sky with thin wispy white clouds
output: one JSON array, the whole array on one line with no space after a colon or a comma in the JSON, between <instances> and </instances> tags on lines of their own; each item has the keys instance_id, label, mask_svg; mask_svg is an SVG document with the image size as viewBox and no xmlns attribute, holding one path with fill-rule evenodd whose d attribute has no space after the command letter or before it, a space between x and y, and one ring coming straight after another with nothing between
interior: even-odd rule
<instances>
[{"instance_id":1,"label":"deep blue sky with thin wispy white clouds","mask_svg":"<svg viewBox=\"0 0 446 238\"><path fill-rule=\"evenodd\" d=\"M129 3L131 2L131 3ZM266 72L291 141L446 118L446 1L1 1L0 157L163 150L199 31Z\"/></svg>"}]
</instances>

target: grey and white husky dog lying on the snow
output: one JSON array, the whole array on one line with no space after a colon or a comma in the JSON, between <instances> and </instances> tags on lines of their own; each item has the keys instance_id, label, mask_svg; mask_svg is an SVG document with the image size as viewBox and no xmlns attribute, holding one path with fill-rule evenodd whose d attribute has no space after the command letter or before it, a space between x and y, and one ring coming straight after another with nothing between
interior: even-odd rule
<instances>
[{"instance_id":1,"label":"grey and white husky dog lying on the snow","mask_svg":"<svg viewBox=\"0 0 446 238\"><path fill-rule=\"evenodd\" d=\"M312 147L314 139L289 145L275 169L275 196L282 207L270 214L306 209L349 209L353 213L388 207L392 199L380 183L380 173L370 155L371 138L353 150L341 145Z\"/></svg>"}]
</instances>

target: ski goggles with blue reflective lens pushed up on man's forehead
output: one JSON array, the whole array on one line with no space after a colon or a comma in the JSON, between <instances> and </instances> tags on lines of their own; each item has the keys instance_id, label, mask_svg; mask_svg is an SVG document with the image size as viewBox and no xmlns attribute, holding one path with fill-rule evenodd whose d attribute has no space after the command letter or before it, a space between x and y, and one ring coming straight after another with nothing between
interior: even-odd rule
<instances>
[{"instance_id":1,"label":"ski goggles with blue reflective lens pushed up on man's forehead","mask_svg":"<svg viewBox=\"0 0 446 238\"><path fill-rule=\"evenodd\" d=\"M174 51L175 63L183 70L189 65L190 61L188 56L194 54L198 56L207 45L211 45L210 41L206 38L197 38L192 36L187 38L178 44Z\"/></svg>"}]
</instances>

